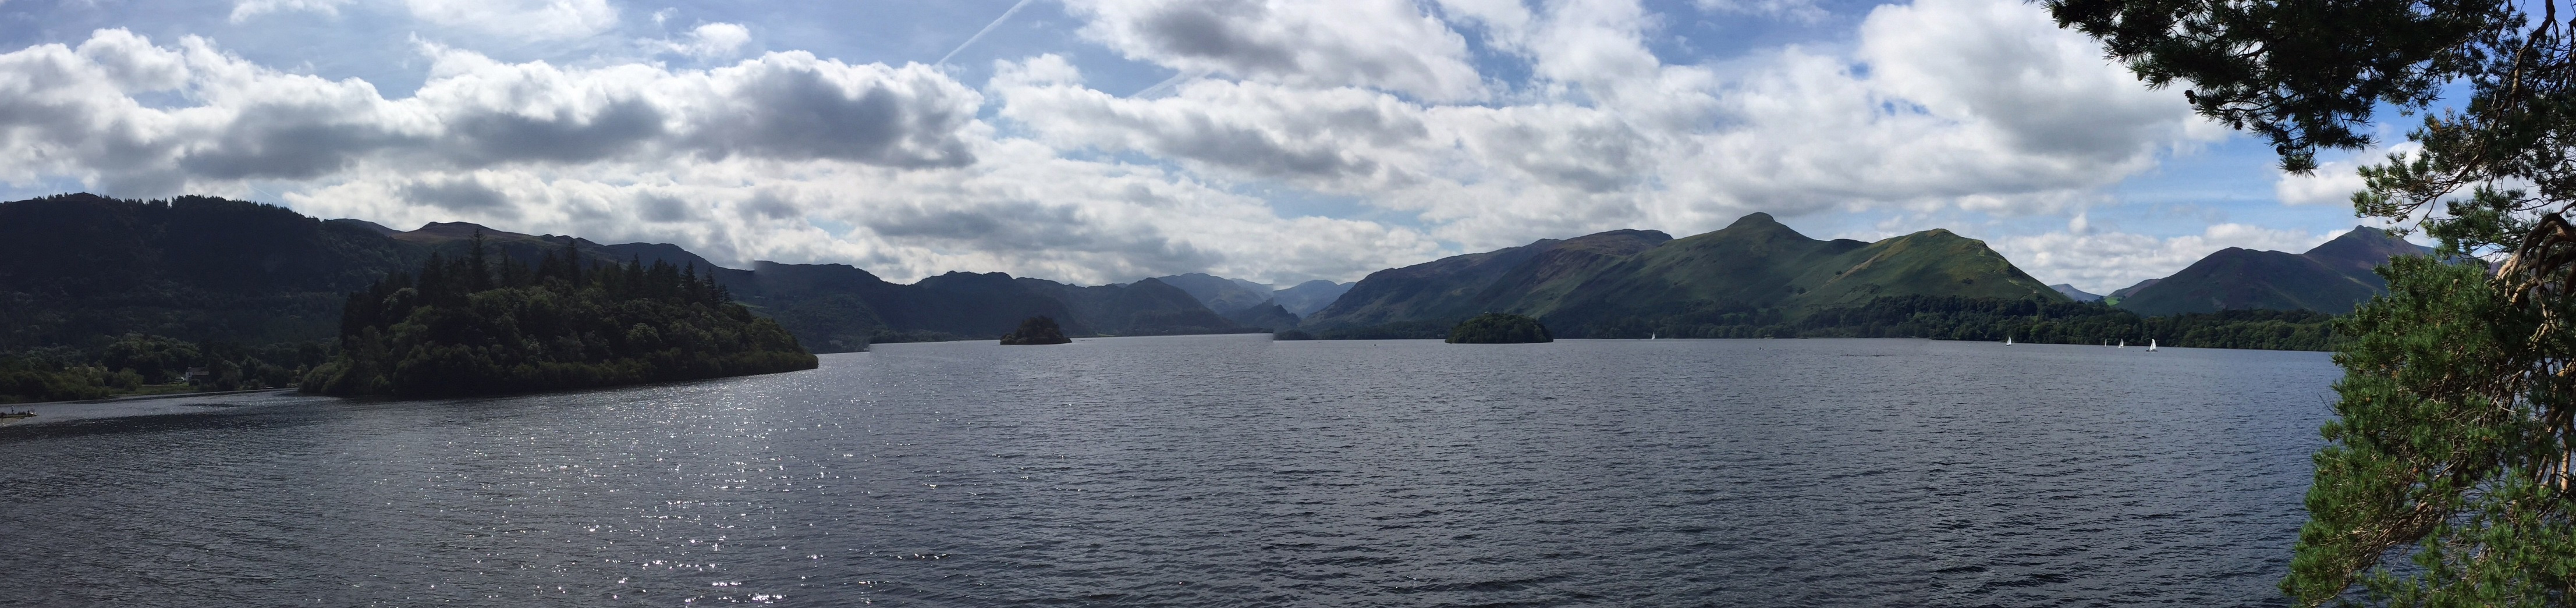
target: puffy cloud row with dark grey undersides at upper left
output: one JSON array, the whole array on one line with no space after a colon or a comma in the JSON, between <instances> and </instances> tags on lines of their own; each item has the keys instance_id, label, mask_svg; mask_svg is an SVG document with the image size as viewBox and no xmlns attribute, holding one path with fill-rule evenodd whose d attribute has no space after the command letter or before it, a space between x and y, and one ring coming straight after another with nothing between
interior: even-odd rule
<instances>
[{"instance_id":1,"label":"puffy cloud row with dark grey undersides at upper left","mask_svg":"<svg viewBox=\"0 0 2576 608\"><path fill-rule=\"evenodd\" d=\"M456 67L412 98L278 72L209 41L126 31L0 52L0 167L93 175L129 196L222 180L319 180L366 167L507 170L698 155L958 167L981 95L927 67L770 54L706 72ZM175 90L162 90L165 85ZM160 95L180 103L139 103Z\"/></svg>"}]
</instances>

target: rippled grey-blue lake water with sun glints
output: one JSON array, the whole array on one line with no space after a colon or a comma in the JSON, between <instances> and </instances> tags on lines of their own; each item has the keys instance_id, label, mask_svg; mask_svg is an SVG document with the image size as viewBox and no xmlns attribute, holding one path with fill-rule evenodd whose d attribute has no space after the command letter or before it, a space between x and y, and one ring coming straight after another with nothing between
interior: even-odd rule
<instances>
[{"instance_id":1,"label":"rippled grey-blue lake water with sun glints","mask_svg":"<svg viewBox=\"0 0 2576 608\"><path fill-rule=\"evenodd\" d=\"M10 605L2277 605L2324 353L1113 337L0 428Z\"/></svg>"}]
</instances>

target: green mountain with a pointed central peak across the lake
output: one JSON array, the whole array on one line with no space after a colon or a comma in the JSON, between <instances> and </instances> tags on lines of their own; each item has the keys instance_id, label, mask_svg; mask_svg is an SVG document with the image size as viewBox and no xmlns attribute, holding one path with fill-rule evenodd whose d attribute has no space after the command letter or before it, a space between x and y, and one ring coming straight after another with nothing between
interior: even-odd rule
<instances>
[{"instance_id":1,"label":"green mountain with a pointed central peak across the lake","mask_svg":"<svg viewBox=\"0 0 2576 608\"><path fill-rule=\"evenodd\" d=\"M1780 325L1878 296L2066 301L1978 240L1929 229L1880 242L1811 240L1770 214L1669 240L1602 232L1378 271L1306 319L1311 330L1440 325L1476 312L1543 319L1564 337L1690 335Z\"/></svg>"}]
</instances>

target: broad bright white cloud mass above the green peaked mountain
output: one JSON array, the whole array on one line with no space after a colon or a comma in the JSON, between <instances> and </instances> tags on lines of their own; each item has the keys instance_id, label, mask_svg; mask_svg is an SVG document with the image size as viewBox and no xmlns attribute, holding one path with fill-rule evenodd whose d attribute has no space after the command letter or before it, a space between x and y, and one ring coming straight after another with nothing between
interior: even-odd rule
<instances>
[{"instance_id":1,"label":"broad bright white cloud mass above the green peaked mountain","mask_svg":"<svg viewBox=\"0 0 2576 608\"><path fill-rule=\"evenodd\" d=\"M1144 28L1159 15L1144 8L1162 5L1092 10L1087 31ZM1723 67L1662 62L1636 3L1443 10L1525 59L1525 93L1468 106L1373 80L1236 75L1121 98L1061 57L1007 62L987 90L1048 144L1360 196L1468 250L1615 227L1687 234L1747 211L2053 214L2223 137L2179 93L2141 88L2012 0L1886 5L1850 54L1788 46Z\"/></svg>"}]
</instances>

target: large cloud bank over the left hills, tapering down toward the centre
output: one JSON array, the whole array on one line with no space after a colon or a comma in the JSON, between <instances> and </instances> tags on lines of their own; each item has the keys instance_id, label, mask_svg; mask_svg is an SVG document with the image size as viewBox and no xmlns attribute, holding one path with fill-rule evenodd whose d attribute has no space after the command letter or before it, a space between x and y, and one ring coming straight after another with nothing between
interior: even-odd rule
<instances>
[{"instance_id":1,"label":"large cloud bank over the left hills, tapering down toward the centre","mask_svg":"<svg viewBox=\"0 0 2576 608\"><path fill-rule=\"evenodd\" d=\"M0 180L111 196L283 191L317 216L484 222L677 242L721 263L858 263L907 281L1221 271L1355 278L1437 252L1417 229L1280 216L1188 175L997 139L925 64L778 52L711 70L559 67L422 46L428 82L278 72L206 39L98 31L0 54ZM191 103L155 108L134 95Z\"/></svg>"}]
</instances>

